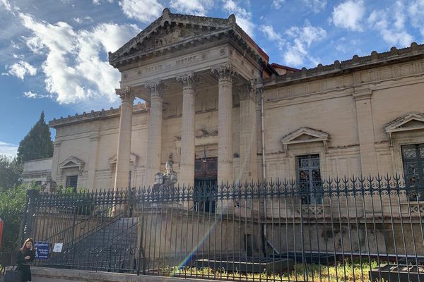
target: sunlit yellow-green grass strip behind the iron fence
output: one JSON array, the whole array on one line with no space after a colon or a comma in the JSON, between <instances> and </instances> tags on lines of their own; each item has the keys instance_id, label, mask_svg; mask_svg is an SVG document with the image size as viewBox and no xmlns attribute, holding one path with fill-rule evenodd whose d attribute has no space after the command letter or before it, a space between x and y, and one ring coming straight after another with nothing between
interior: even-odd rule
<instances>
[{"instance_id":1,"label":"sunlit yellow-green grass strip behind the iron fence","mask_svg":"<svg viewBox=\"0 0 424 282\"><path fill-rule=\"evenodd\" d=\"M177 267L170 267L161 269L165 274L170 276L196 276L204 278L218 278L222 280L235 280L235 281L319 281L319 282L338 282L338 281L370 281L368 271L371 268L377 267L377 262L363 260L361 267L360 262L338 263L336 266L324 266L317 264L296 264L294 269L285 274L252 274L240 272L228 272L224 269L213 270L211 268L195 268L184 267L177 269ZM361 271L362 270L362 271ZM384 281L377 281L384 282Z\"/></svg>"}]
</instances>

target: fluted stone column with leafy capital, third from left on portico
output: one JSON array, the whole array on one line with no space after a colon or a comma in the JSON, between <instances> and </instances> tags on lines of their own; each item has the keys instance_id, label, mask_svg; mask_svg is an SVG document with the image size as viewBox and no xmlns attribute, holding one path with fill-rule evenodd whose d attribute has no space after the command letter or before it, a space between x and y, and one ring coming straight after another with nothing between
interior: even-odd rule
<instances>
[{"instance_id":1,"label":"fluted stone column with leafy capital, third from left on portico","mask_svg":"<svg viewBox=\"0 0 424 282\"><path fill-rule=\"evenodd\" d=\"M179 185L194 185L194 97L199 81L194 73L177 76L182 84L181 161Z\"/></svg>"}]
</instances>

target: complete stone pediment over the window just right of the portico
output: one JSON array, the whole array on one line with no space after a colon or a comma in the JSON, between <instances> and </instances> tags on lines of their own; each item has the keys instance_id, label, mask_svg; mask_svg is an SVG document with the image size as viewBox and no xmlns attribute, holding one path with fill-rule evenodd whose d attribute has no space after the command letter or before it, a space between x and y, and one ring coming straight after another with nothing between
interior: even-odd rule
<instances>
[{"instance_id":1,"label":"complete stone pediment over the window just right of the portico","mask_svg":"<svg viewBox=\"0 0 424 282\"><path fill-rule=\"evenodd\" d=\"M310 142L322 142L322 144L324 145L324 150L325 152L327 152L328 140L328 133L324 133L322 131L312 128L302 127L281 138L281 144L283 145L285 156L288 156L288 145Z\"/></svg>"}]
</instances>

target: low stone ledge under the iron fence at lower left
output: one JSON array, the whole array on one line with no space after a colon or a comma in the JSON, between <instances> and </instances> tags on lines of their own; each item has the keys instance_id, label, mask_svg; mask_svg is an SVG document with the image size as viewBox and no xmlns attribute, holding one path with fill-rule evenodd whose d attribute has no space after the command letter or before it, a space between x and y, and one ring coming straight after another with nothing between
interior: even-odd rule
<instances>
[{"instance_id":1,"label":"low stone ledge under the iron fence at lower left","mask_svg":"<svg viewBox=\"0 0 424 282\"><path fill-rule=\"evenodd\" d=\"M122 274L112 272L96 272L87 270L73 269L54 269L45 267L31 267L33 274L33 282L181 282L181 281L203 281L212 282L216 280L194 279L194 278L177 278L177 277L162 277L162 276L147 276L135 274Z\"/></svg>"}]
</instances>

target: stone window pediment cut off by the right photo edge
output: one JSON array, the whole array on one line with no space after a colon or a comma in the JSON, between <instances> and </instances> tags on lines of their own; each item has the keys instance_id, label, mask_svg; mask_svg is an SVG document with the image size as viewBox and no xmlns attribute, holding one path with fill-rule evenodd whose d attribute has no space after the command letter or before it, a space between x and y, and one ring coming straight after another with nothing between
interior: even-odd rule
<instances>
[{"instance_id":1,"label":"stone window pediment cut off by the right photo edge","mask_svg":"<svg viewBox=\"0 0 424 282\"><path fill-rule=\"evenodd\" d=\"M392 134L399 132L406 132L411 130L424 129L424 114L422 113L409 113L394 121L387 123L384 126L384 131L389 135L390 145L393 145Z\"/></svg>"}]
</instances>

